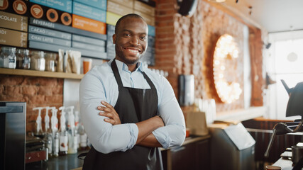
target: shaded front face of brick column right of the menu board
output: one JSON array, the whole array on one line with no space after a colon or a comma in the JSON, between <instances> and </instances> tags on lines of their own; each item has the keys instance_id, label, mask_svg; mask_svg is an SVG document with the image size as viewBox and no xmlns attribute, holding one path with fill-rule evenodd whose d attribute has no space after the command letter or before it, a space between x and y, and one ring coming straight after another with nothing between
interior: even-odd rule
<instances>
[{"instance_id":1,"label":"shaded front face of brick column right of the menu board","mask_svg":"<svg viewBox=\"0 0 303 170\"><path fill-rule=\"evenodd\" d=\"M155 68L162 69L169 73L167 77L172 88L177 94L178 84L178 74L182 62L177 59L177 48L176 48L176 38L175 38L175 24L176 21L176 10L175 7L177 1L157 1L155 8Z\"/></svg>"}]
</instances>

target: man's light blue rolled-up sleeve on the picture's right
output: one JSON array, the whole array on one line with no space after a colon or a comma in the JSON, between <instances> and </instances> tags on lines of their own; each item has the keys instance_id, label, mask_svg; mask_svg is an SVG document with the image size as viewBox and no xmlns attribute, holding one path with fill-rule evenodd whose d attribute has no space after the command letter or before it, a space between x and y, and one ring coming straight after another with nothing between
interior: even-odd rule
<instances>
[{"instance_id":1,"label":"man's light blue rolled-up sleeve on the picture's right","mask_svg":"<svg viewBox=\"0 0 303 170\"><path fill-rule=\"evenodd\" d=\"M170 83L164 79L162 85L158 115L165 126L154 130L153 135L164 148L180 146L185 140L184 115Z\"/></svg>"}]
</instances>

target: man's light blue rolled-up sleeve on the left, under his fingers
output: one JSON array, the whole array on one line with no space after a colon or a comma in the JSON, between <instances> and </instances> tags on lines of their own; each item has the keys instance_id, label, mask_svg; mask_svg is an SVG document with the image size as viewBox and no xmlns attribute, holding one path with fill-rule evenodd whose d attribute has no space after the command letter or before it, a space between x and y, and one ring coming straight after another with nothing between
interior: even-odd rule
<instances>
[{"instance_id":1,"label":"man's light blue rolled-up sleeve on the left, under his fingers","mask_svg":"<svg viewBox=\"0 0 303 170\"><path fill-rule=\"evenodd\" d=\"M106 98L106 90L99 76L84 76L79 87L79 99L81 120L94 149L106 154L133 148L138 137L136 124L111 125L104 122L106 117L99 115L97 106L101 105L101 101L111 103Z\"/></svg>"}]
</instances>

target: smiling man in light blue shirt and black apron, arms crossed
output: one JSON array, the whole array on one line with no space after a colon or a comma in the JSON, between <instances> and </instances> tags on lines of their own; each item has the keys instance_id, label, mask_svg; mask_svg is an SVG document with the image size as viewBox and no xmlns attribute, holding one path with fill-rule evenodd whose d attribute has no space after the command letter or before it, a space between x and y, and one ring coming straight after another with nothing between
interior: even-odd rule
<instances>
[{"instance_id":1,"label":"smiling man in light blue shirt and black apron, arms crossed","mask_svg":"<svg viewBox=\"0 0 303 170\"><path fill-rule=\"evenodd\" d=\"M148 25L128 14L117 21L116 57L80 84L80 109L92 143L83 169L163 169L158 147L180 146L184 116L165 77L143 67Z\"/></svg>"}]
</instances>

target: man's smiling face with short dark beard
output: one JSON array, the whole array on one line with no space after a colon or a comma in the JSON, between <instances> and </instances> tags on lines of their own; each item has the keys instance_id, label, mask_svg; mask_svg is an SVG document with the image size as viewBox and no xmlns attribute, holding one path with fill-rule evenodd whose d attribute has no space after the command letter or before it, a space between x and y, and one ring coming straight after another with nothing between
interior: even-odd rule
<instances>
[{"instance_id":1,"label":"man's smiling face with short dark beard","mask_svg":"<svg viewBox=\"0 0 303 170\"><path fill-rule=\"evenodd\" d=\"M125 18L113 35L113 42L117 60L136 64L148 47L148 26L141 18Z\"/></svg>"}]
</instances>

